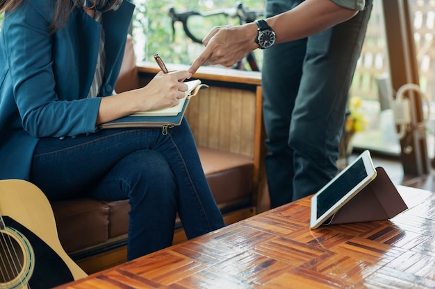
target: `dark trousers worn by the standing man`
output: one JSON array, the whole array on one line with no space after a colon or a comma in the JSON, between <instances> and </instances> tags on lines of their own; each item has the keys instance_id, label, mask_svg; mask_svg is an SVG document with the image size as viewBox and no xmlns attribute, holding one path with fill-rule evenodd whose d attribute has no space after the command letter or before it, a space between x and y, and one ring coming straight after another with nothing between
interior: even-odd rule
<instances>
[{"instance_id":1,"label":"dark trousers worn by the standing man","mask_svg":"<svg viewBox=\"0 0 435 289\"><path fill-rule=\"evenodd\" d=\"M301 0L268 0L266 15ZM271 207L316 193L337 173L347 97L372 0L355 17L263 53L265 157ZM307 19L309 21L309 19Z\"/></svg>"}]
</instances>

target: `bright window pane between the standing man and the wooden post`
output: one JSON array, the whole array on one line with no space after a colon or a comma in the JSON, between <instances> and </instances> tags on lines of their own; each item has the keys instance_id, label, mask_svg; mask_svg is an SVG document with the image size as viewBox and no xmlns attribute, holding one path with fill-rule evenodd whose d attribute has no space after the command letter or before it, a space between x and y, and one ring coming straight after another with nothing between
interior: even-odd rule
<instances>
[{"instance_id":1,"label":"bright window pane between the standing man and the wooden post","mask_svg":"<svg viewBox=\"0 0 435 289\"><path fill-rule=\"evenodd\" d=\"M395 137L393 112L389 105L393 92L388 76L383 13L381 0L375 0L350 89L350 98L361 99L366 124L361 132L356 132L352 144L354 147L398 155L400 143Z\"/></svg>"}]
</instances>

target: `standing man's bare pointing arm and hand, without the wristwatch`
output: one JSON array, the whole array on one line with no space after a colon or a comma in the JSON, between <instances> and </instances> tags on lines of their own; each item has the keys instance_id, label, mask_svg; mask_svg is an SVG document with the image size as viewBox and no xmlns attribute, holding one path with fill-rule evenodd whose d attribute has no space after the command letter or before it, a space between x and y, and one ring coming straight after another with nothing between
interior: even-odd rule
<instances>
[{"instance_id":1,"label":"standing man's bare pointing arm and hand, without the wristwatch","mask_svg":"<svg viewBox=\"0 0 435 289\"><path fill-rule=\"evenodd\" d=\"M319 33L354 17L358 12L353 8L340 6L334 1L346 2L346 0L306 0L292 10L266 19L276 34L275 43L298 40ZM242 60L249 51L258 49L258 45L254 42L256 35L257 26L254 23L213 28L203 40L206 48L188 71L193 74L206 63L231 67Z\"/></svg>"}]
</instances>

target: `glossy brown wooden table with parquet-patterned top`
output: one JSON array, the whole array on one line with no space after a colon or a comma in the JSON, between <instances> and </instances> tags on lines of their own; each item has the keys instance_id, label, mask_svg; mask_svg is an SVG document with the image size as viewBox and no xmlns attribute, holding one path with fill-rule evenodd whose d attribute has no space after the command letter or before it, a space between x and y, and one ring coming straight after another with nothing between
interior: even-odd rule
<instances>
[{"instance_id":1,"label":"glossy brown wooden table with parquet-patterned top","mask_svg":"<svg viewBox=\"0 0 435 289\"><path fill-rule=\"evenodd\" d=\"M310 198L58 288L435 288L435 193L391 220L309 229Z\"/></svg>"}]
</instances>

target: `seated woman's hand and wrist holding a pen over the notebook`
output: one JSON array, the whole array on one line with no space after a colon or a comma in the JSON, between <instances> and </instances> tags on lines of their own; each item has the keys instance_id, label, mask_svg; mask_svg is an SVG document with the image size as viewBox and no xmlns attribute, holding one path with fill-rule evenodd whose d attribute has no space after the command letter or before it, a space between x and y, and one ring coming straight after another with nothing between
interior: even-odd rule
<instances>
[{"instance_id":1,"label":"seated woman's hand and wrist holding a pen over the notebook","mask_svg":"<svg viewBox=\"0 0 435 289\"><path fill-rule=\"evenodd\" d=\"M159 110L177 105L186 97L188 71L159 72L145 87L101 99L96 125L119 119L135 112Z\"/></svg>"}]
</instances>

